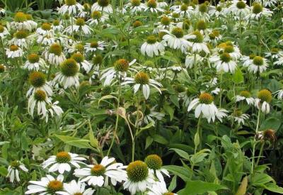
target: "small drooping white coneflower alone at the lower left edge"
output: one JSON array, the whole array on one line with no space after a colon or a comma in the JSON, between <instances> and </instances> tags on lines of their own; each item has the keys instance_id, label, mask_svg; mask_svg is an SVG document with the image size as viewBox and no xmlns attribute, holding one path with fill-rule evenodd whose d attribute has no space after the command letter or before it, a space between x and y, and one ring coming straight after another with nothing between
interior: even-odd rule
<instances>
[{"instance_id":1,"label":"small drooping white coneflower alone at the lower left edge","mask_svg":"<svg viewBox=\"0 0 283 195\"><path fill-rule=\"evenodd\" d=\"M11 165L8 166L8 174L6 177L9 178L10 182L13 183L16 179L16 182L20 182L20 175L19 173L28 172L28 169L23 165L23 163L19 160L15 160L11 162Z\"/></svg>"}]
</instances>

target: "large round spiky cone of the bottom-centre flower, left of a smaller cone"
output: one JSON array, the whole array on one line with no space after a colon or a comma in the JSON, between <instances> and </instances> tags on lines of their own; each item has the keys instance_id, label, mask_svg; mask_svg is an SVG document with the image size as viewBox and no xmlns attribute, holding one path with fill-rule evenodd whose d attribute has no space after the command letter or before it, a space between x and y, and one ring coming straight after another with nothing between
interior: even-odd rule
<instances>
[{"instance_id":1,"label":"large round spiky cone of the bottom-centre flower, left of a smaller cone","mask_svg":"<svg viewBox=\"0 0 283 195\"><path fill-rule=\"evenodd\" d=\"M146 163L137 160L129 163L127 167L127 176L131 182L142 182L149 175L149 169Z\"/></svg>"}]
</instances>

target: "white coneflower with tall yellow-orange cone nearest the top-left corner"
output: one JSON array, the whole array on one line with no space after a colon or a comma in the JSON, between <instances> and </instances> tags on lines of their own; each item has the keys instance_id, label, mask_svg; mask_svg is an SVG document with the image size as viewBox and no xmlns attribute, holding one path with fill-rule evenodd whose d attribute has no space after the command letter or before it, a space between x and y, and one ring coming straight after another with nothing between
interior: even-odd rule
<instances>
[{"instance_id":1,"label":"white coneflower with tall yellow-orange cone nearest the top-left corner","mask_svg":"<svg viewBox=\"0 0 283 195\"><path fill-rule=\"evenodd\" d=\"M11 28L15 30L33 30L30 22L28 21L27 15L23 12L17 12L11 22Z\"/></svg>"}]
</instances>

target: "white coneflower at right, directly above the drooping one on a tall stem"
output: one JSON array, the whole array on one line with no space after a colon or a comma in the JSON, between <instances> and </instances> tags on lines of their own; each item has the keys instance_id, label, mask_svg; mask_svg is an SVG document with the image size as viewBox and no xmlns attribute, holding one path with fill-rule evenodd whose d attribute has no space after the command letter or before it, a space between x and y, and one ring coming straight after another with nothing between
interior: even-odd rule
<instances>
[{"instance_id":1,"label":"white coneflower at right, directly above the drooping one on a tall stem","mask_svg":"<svg viewBox=\"0 0 283 195\"><path fill-rule=\"evenodd\" d=\"M265 71L268 67L267 60L260 56L255 56L253 59L246 60L246 62L243 63L244 67L248 67L248 72L260 72L262 73Z\"/></svg>"}]
</instances>

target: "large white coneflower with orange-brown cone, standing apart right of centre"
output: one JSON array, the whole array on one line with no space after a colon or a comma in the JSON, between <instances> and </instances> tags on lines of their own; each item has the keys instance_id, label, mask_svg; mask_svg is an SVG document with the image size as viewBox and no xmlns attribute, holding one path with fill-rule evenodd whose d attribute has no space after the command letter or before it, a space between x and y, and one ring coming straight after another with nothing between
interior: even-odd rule
<instances>
[{"instance_id":1,"label":"large white coneflower with orange-brown cone, standing apart right of centre","mask_svg":"<svg viewBox=\"0 0 283 195\"><path fill-rule=\"evenodd\" d=\"M207 118L207 121L214 121L218 109L214 105L213 97L210 94L202 93L197 99L194 99L190 102L190 105L187 108L187 111L190 112L192 109L195 109L195 118L199 118L202 114L204 118Z\"/></svg>"}]
</instances>

